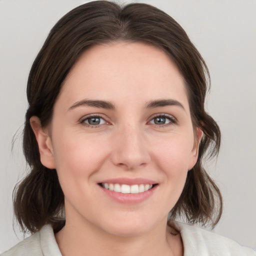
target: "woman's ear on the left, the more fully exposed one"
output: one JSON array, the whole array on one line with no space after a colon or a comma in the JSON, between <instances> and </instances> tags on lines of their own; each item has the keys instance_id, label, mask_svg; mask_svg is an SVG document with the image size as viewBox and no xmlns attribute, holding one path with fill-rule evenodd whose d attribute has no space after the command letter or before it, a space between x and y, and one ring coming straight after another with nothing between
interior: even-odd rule
<instances>
[{"instance_id":1,"label":"woman's ear on the left, the more fully exposed one","mask_svg":"<svg viewBox=\"0 0 256 256\"><path fill-rule=\"evenodd\" d=\"M49 169L55 168L54 155L52 150L51 138L48 132L41 127L41 121L37 116L30 118L30 125L34 132L42 165Z\"/></svg>"}]
</instances>

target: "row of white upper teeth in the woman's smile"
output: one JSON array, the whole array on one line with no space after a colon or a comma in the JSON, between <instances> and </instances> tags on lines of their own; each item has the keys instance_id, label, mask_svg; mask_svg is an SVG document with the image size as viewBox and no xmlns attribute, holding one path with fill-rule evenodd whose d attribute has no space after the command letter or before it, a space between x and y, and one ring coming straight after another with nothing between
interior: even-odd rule
<instances>
[{"instance_id":1,"label":"row of white upper teeth in the woman's smile","mask_svg":"<svg viewBox=\"0 0 256 256\"><path fill-rule=\"evenodd\" d=\"M150 189L152 184L137 184L137 185L126 185L126 184L113 184L113 183L102 183L102 186L106 189L120 192L120 193L141 193Z\"/></svg>"}]
</instances>

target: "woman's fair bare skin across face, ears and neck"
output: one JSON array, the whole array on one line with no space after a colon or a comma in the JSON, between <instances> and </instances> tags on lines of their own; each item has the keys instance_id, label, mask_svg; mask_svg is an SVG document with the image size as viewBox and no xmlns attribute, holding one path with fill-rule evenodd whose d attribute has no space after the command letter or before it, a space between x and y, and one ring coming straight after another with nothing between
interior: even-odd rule
<instances>
[{"instance_id":1,"label":"woman's fair bare skin across face, ears and neck","mask_svg":"<svg viewBox=\"0 0 256 256\"><path fill-rule=\"evenodd\" d=\"M77 106L84 99L115 108ZM148 107L159 99L178 103ZM201 130L194 133L183 78L164 52L142 43L92 46L67 75L51 124L42 128L36 116L30 123L41 162L56 168L64 193L66 224L55 235L64 256L183 254L166 220L197 160ZM116 177L157 186L142 202L120 203L98 185Z\"/></svg>"}]
</instances>

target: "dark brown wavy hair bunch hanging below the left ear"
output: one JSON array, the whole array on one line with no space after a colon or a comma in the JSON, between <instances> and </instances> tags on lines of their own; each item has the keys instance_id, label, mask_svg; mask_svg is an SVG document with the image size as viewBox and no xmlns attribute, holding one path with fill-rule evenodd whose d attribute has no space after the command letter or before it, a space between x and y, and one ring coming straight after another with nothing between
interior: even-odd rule
<instances>
[{"instance_id":1,"label":"dark brown wavy hair bunch hanging below the left ear","mask_svg":"<svg viewBox=\"0 0 256 256\"><path fill-rule=\"evenodd\" d=\"M34 233L46 223L58 229L63 204L56 170L43 165L32 169L13 191L14 214L23 232Z\"/></svg>"}]
</instances>

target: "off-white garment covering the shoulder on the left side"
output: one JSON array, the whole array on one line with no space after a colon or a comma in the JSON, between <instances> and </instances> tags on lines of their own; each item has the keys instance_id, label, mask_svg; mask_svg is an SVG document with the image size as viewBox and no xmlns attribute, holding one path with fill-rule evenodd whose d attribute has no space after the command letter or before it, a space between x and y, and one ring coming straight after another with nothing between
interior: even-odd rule
<instances>
[{"instance_id":1,"label":"off-white garment covering the shoulder on the left side","mask_svg":"<svg viewBox=\"0 0 256 256\"><path fill-rule=\"evenodd\" d=\"M9 250L3 252L1 256L61 256L57 246L52 227L43 226L40 231L25 238Z\"/></svg>"}]
</instances>

